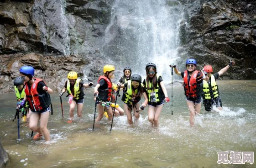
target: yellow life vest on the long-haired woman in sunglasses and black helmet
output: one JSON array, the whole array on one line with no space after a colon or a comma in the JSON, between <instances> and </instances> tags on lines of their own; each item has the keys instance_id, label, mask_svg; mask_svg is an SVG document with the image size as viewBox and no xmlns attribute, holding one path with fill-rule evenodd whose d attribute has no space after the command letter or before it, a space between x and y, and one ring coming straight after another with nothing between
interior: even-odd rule
<instances>
[{"instance_id":1,"label":"yellow life vest on the long-haired woman in sunglasses and black helmet","mask_svg":"<svg viewBox=\"0 0 256 168\"><path fill-rule=\"evenodd\" d=\"M148 101L151 102L151 99L150 99L150 95L151 93L154 93L155 95L155 98L156 98L156 103L157 102L161 102L162 100L164 100L163 98L163 91L162 91L162 88L159 87L158 85L158 78L159 78L160 75L157 75L156 74L156 77L157 77L157 82L156 82L156 88L154 88L154 90L152 90L153 88L153 84L152 82L149 81L149 89L147 89L147 77L145 78L145 81L146 81L146 84L145 84L145 89L147 90L147 96L148 96Z\"/></svg>"}]
</instances>

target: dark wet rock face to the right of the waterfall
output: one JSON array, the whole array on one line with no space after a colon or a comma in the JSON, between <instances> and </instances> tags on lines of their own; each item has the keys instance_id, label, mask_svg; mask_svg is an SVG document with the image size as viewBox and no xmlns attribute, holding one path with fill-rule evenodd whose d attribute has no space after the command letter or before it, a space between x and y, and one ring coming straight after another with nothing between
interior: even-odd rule
<instances>
[{"instance_id":1,"label":"dark wet rock face to the right of the waterfall","mask_svg":"<svg viewBox=\"0 0 256 168\"><path fill-rule=\"evenodd\" d=\"M233 59L236 65L225 76L256 79L256 2L201 0L185 6L188 17L187 25L181 27L181 39L186 39L181 40L182 58L196 58L200 68L211 64L214 72Z\"/></svg>"}]
</instances>

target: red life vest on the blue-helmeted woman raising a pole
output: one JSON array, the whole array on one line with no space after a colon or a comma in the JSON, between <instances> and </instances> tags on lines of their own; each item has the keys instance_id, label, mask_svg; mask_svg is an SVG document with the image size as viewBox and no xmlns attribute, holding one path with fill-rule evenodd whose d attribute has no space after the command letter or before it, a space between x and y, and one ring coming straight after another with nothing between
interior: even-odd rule
<instances>
[{"instance_id":1,"label":"red life vest on the blue-helmeted woman raising a pole","mask_svg":"<svg viewBox=\"0 0 256 168\"><path fill-rule=\"evenodd\" d=\"M185 95L187 97L197 97L197 74L199 71L195 70L193 74L190 77L189 83L188 83L188 71L184 71L184 77L183 77L183 87L185 91Z\"/></svg>"}]
</instances>

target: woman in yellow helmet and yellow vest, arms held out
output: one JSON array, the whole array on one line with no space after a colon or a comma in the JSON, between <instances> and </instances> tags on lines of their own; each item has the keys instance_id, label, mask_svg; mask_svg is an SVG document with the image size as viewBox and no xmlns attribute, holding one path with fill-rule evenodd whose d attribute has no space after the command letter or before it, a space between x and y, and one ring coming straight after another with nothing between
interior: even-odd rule
<instances>
[{"instance_id":1,"label":"woman in yellow helmet and yellow vest, arms held out","mask_svg":"<svg viewBox=\"0 0 256 168\"><path fill-rule=\"evenodd\" d=\"M75 105L77 108L77 116L82 117L82 110L84 106L84 88L92 86L93 83L85 84L78 74L74 71L69 72L67 76L68 80L65 82L64 88L62 89L59 96L62 96L63 93L68 92L69 94L69 120L68 123L73 122Z\"/></svg>"}]
</instances>

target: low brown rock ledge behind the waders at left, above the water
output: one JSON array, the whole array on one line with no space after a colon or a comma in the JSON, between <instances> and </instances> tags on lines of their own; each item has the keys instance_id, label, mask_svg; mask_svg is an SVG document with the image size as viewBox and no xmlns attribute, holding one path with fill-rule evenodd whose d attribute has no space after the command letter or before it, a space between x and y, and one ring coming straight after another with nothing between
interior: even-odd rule
<instances>
[{"instance_id":1,"label":"low brown rock ledge behind the waders at left, above the water","mask_svg":"<svg viewBox=\"0 0 256 168\"><path fill-rule=\"evenodd\" d=\"M84 68L89 66L93 59L84 59L79 55L71 56L44 56L36 53L2 55L0 62L0 93L13 92L13 80L20 76L19 68L23 65L31 65L35 68L35 78L43 79L47 86L55 91L64 87L68 72L76 71L78 78L84 78ZM96 80L100 71L88 70L89 81ZM86 79L85 79L85 82Z\"/></svg>"}]
</instances>

